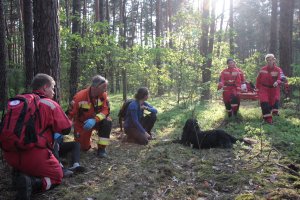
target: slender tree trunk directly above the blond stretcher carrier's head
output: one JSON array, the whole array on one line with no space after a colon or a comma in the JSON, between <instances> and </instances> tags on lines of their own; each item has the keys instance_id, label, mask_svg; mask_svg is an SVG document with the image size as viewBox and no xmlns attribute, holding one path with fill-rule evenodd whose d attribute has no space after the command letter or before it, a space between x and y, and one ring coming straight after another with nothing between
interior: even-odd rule
<instances>
[{"instance_id":1,"label":"slender tree trunk directly above the blond stretcher carrier's head","mask_svg":"<svg viewBox=\"0 0 300 200\"><path fill-rule=\"evenodd\" d=\"M272 0L271 12L271 32L270 32L270 47L269 52L277 56L277 32L278 32L278 0Z\"/></svg>"}]
</instances>

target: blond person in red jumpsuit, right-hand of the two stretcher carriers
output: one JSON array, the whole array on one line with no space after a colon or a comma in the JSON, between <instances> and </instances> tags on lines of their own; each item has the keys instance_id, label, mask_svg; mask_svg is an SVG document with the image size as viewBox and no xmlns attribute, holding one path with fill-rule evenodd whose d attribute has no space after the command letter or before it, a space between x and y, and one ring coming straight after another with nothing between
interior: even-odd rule
<instances>
[{"instance_id":1,"label":"blond person in red jumpsuit, right-hand of the two stretcher carriers","mask_svg":"<svg viewBox=\"0 0 300 200\"><path fill-rule=\"evenodd\" d=\"M282 70L276 66L275 57L273 54L267 54L265 56L267 62L266 66L263 66L256 78L256 88L258 89L258 97L260 100L260 106L263 114L263 119L266 123L272 124L272 109L279 105ZM276 106L277 105L277 106ZM278 114L278 109L274 110L274 114Z\"/></svg>"}]
</instances>

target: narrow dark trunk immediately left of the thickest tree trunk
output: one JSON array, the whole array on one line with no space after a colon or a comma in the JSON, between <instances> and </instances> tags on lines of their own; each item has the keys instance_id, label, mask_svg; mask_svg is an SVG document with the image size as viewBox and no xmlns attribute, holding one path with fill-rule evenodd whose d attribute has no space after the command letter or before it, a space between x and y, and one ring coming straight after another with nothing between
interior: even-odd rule
<instances>
[{"instance_id":1,"label":"narrow dark trunk immediately left of the thickest tree trunk","mask_svg":"<svg viewBox=\"0 0 300 200\"><path fill-rule=\"evenodd\" d=\"M34 76L32 1L24 0L25 87L28 90Z\"/></svg>"}]
</instances>

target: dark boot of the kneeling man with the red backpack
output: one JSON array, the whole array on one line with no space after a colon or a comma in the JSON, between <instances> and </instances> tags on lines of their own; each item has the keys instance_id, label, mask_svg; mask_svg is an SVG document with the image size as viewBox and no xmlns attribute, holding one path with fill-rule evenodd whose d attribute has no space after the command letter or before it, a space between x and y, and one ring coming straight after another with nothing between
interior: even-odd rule
<instances>
[{"instance_id":1,"label":"dark boot of the kneeling man with the red backpack","mask_svg":"<svg viewBox=\"0 0 300 200\"><path fill-rule=\"evenodd\" d=\"M16 200L30 200L32 186L31 178L25 174L20 174L16 182Z\"/></svg>"}]
</instances>

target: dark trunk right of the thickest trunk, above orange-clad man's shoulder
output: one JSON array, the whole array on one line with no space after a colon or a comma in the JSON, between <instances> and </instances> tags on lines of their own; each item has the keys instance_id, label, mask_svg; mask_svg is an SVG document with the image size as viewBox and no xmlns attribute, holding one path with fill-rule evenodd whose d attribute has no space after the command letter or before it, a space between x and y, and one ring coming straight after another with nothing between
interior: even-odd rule
<instances>
[{"instance_id":1,"label":"dark trunk right of the thickest trunk, above orange-clad man's shoulder","mask_svg":"<svg viewBox=\"0 0 300 200\"><path fill-rule=\"evenodd\" d=\"M73 0L73 11L72 11L72 34L80 36L80 0ZM76 37L73 37L76 38ZM71 101L73 96L77 92L77 84L79 77L79 47L77 41L71 42L71 68L70 68L70 96Z\"/></svg>"}]
</instances>

